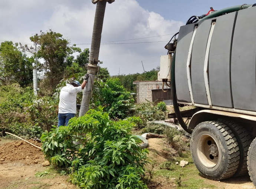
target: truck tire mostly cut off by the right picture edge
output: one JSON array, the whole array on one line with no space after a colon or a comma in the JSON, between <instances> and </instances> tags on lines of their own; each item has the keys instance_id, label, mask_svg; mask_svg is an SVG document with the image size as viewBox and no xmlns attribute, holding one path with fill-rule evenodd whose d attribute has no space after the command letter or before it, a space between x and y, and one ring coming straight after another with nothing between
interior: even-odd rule
<instances>
[{"instance_id":1,"label":"truck tire mostly cut off by the right picture edge","mask_svg":"<svg viewBox=\"0 0 256 189\"><path fill-rule=\"evenodd\" d=\"M247 156L248 171L251 181L254 186L256 186L256 138L252 141L249 147Z\"/></svg>"}]
</instances>

